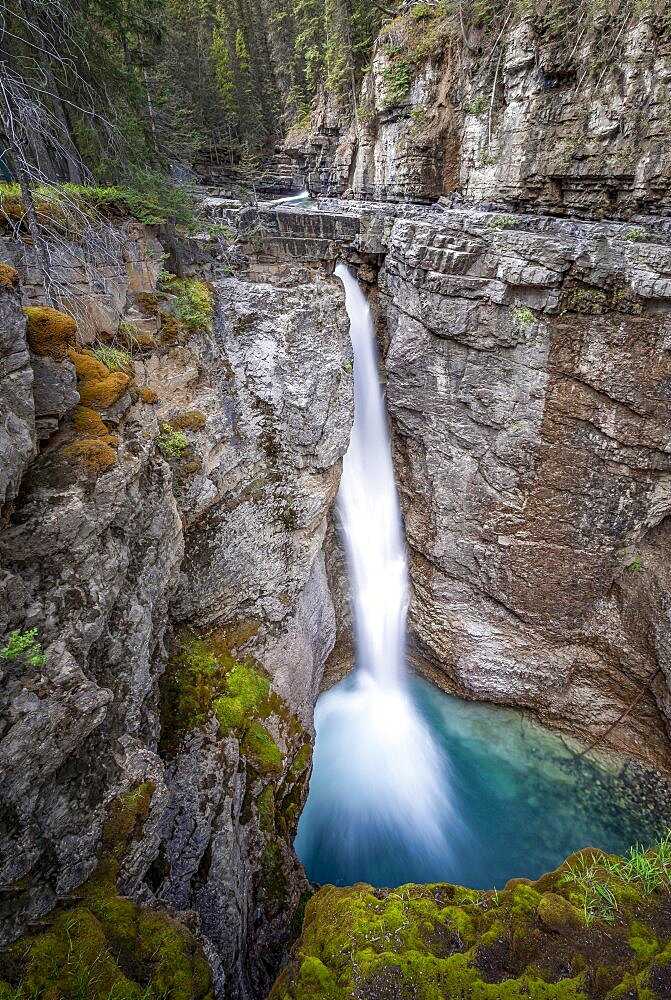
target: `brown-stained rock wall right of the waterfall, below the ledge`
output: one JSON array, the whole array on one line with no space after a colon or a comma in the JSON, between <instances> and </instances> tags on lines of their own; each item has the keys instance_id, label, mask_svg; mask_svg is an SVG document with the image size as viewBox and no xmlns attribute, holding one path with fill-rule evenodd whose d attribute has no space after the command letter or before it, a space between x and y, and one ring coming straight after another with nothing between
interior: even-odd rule
<instances>
[{"instance_id":1,"label":"brown-stained rock wall right of the waterfall, below the ledge","mask_svg":"<svg viewBox=\"0 0 671 1000\"><path fill-rule=\"evenodd\" d=\"M397 221L387 399L417 662L594 738L635 701L609 740L663 763L671 251L629 233Z\"/></svg>"}]
</instances>

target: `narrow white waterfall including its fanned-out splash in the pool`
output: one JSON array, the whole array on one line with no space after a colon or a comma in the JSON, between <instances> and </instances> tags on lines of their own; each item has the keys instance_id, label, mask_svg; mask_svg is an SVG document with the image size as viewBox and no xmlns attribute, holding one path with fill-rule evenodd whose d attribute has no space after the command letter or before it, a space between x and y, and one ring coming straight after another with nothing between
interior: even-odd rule
<instances>
[{"instance_id":1,"label":"narrow white waterfall including its fanned-out splash in the pool","mask_svg":"<svg viewBox=\"0 0 671 1000\"><path fill-rule=\"evenodd\" d=\"M450 854L446 762L406 684L408 568L384 398L366 297L348 269L355 416L337 509L350 577L356 669L315 711L310 796L296 850L343 884L431 881ZM328 880L333 880L332 877Z\"/></svg>"}]
</instances>

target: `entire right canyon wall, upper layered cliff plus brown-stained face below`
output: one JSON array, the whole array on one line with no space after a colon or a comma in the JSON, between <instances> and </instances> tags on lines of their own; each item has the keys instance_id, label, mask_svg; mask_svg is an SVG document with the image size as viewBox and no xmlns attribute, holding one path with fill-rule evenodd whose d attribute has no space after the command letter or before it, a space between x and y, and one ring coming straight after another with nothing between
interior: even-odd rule
<instances>
[{"instance_id":1,"label":"entire right canyon wall, upper layered cliff plus brown-stained face below","mask_svg":"<svg viewBox=\"0 0 671 1000\"><path fill-rule=\"evenodd\" d=\"M381 268L418 669L662 767L670 59L652 15L567 38L418 5L356 112L322 98L290 137Z\"/></svg>"}]
</instances>

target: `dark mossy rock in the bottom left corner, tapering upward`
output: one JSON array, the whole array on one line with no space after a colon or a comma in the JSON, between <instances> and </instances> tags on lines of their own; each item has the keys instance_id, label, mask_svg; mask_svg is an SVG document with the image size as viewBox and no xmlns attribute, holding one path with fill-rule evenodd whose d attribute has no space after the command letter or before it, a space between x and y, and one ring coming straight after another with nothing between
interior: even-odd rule
<instances>
[{"instance_id":1,"label":"dark mossy rock in the bottom left corner, tapering upward","mask_svg":"<svg viewBox=\"0 0 671 1000\"><path fill-rule=\"evenodd\" d=\"M169 914L117 895L119 863L149 815L144 781L107 811L84 885L0 954L0 1000L213 1000L203 949Z\"/></svg>"}]
</instances>

